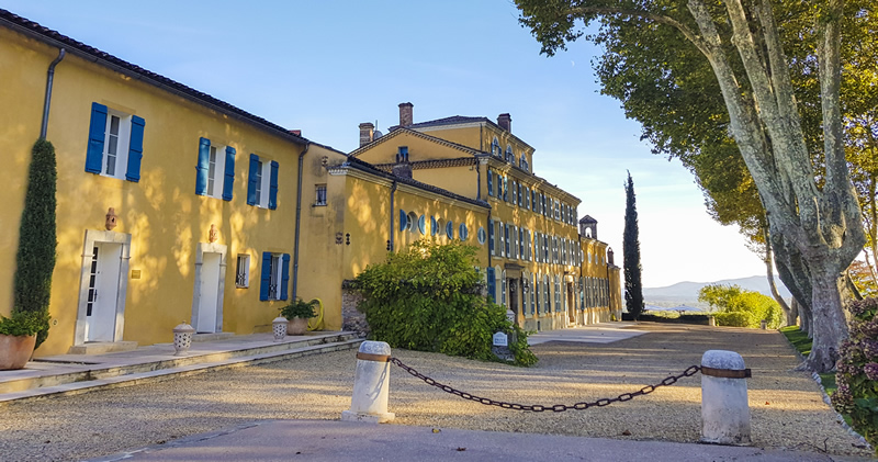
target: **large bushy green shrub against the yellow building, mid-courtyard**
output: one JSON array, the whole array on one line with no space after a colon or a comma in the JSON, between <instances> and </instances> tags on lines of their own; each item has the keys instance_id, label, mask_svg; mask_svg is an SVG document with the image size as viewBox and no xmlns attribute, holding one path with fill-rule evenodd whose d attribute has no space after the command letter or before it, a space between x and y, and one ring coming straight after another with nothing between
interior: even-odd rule
<instances>
[{"instance_id":1,"label":"large bushy green shrub against the yellow building, mid-courtyard","mask_svg":"<svg viewBox=\"0 0 878 462\"><path fill-rule=\"evenodd\" d=\"M515 363L536 363L527 333L483 295L475 252L457 241L418 241L370 264L353 282L363 294L358 309L365 314L370 337L394 348L496 360L492 337L504 331L516 339L509 345Z\"/></svg>"}]
</instances>

